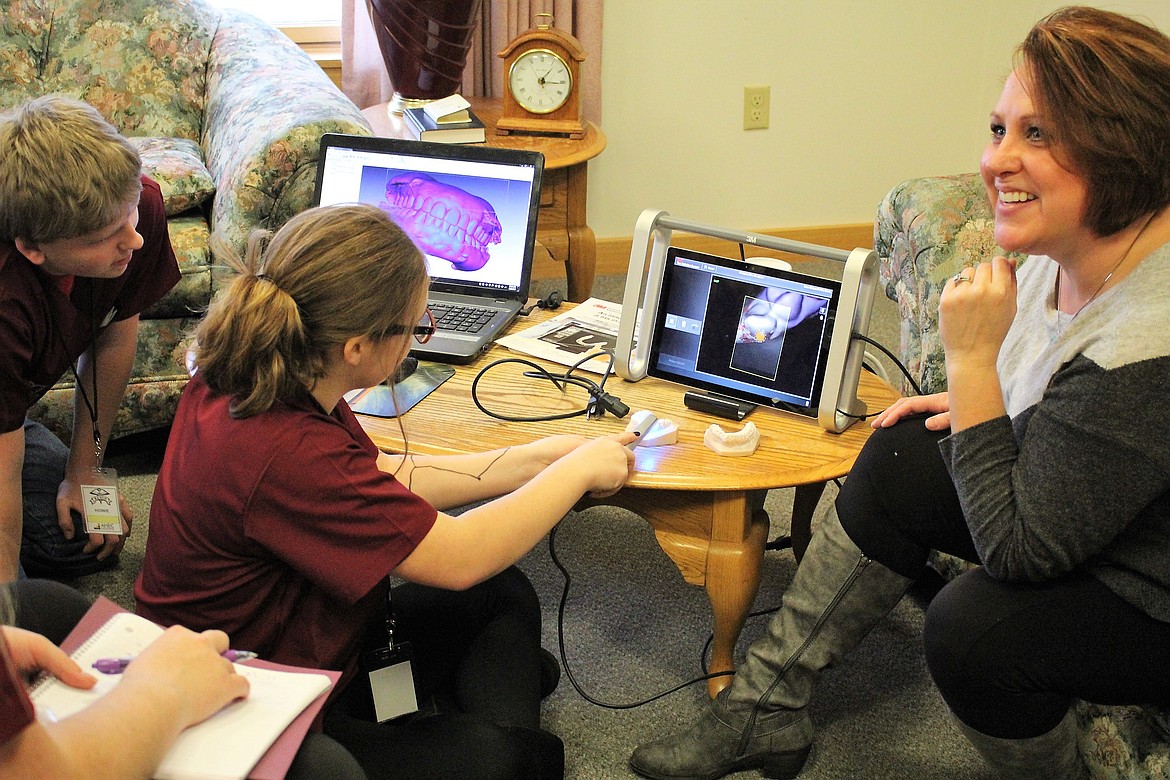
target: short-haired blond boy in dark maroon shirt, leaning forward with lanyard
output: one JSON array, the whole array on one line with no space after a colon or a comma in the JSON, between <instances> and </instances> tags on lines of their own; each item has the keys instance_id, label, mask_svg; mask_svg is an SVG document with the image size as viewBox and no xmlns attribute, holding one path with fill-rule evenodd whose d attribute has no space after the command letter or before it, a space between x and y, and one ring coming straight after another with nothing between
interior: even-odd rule
<instances>
[{"instance_id":1,"label":"short-haired blond boy in dark maroon shirt, leaning forward with lanyard","mask_svg":"<svg viewBox=\"0 0 1170 780\"><path fill-rule=\"evenodd\" d=\"M91 483L125 394L138 315L179 281L163 196L137 150L90 105L47 96L0 115L0 582L111 565L89 534ZM76 380L66 447L28 409Z\"/></svg>"}]
</instances>

